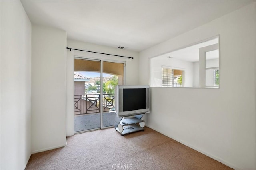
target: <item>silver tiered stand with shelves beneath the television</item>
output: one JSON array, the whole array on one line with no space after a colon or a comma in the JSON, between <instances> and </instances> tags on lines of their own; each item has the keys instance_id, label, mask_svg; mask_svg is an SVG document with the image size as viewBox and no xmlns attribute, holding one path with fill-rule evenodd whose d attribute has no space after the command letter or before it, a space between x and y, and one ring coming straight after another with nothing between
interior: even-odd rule
<instances>
[{"instance_id":1,"label":"silver tiered stand with shelves beneath the television","mask_svg":"<svg viewBox=\"0 0 256 170\"><path fill-rule=\"evenodd\" d=\"M118 131L122 136L125 134L144 131L145 121L142 120L142 116L144 113L139 115L134 115L134 117L130 118L130 116L119 117L116 119L116 131ZM129 117L129 118L127 118Z\"/></svg>"}]
</instances>

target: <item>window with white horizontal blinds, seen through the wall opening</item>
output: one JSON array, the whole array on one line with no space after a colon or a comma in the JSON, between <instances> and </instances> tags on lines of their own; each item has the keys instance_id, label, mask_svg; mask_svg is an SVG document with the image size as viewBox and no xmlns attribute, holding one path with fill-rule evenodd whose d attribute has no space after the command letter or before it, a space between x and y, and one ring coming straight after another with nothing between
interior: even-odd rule
<instances>
[{"instance_id":1,"label":"window with white horizontal blinds, seen through the wall opening","mask_svg":"<svg viewBox=\"0 0 256 170\"><path fill-rule=\"evenodd\" d=\"M182 87L183 70L162 67L162 86L163 87Z\"/></svg>"}]
</instances>

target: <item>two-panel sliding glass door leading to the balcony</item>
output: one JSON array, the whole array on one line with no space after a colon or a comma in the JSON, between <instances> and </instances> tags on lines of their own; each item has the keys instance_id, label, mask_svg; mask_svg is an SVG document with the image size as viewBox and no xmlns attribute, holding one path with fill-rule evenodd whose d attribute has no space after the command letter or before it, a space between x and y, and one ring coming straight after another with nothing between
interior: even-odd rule
<instances>
[{"instance_id":1,"label":"two-panel sliding glass door leading to the balcony","mask_svg":"<svg viewBox=\"0 0 256 170\"><path fill-rule=\"evenodd\" d=\"M114 88L118 84L124 84L124 63L75 59L75 133L114 125Z\"/></svg>"}]
</instances>

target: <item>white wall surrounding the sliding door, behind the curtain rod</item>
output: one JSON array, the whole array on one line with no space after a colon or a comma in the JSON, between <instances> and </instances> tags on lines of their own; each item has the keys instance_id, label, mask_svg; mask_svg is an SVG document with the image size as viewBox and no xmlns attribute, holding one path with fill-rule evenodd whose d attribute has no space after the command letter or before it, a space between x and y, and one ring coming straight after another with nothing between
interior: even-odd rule
<instances>
[{"instance_id":1,"label":"white wall surrounding the sliding door, behind the curtain rod","mask_svg":"<svg viewBox=\"0 0 256 170\"><path fill-rule=\"evenodd\" d=\"M102 55L84 51L67 50L67 136L71 136L74 134L74 56L110 61L125 61L126 85L138 85L138 53L126 49L106 47L76 40L68 40L67 47L99 53L109 53L113 55L134 57L134 59L128 59L124 57Z\"/></svg>"}]
</instances>

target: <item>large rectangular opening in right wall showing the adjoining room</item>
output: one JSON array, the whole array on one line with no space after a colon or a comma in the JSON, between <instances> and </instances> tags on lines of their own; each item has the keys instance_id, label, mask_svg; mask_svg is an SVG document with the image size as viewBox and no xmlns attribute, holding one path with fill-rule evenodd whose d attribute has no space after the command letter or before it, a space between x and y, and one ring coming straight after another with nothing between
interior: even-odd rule
<instances>
[{"instance_id":1,"label":"large rectangular opening in right wall showing the adjoining room","mask_svg":"<svg viewBox=\"0 0 256 170\"><path fill-rule=\"evenodd\" d=\"M218 36L150 59L151 87L219 88L219 85Z\"/></svg>"}]
</instances>

